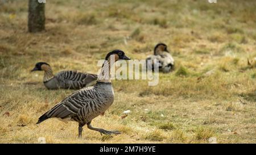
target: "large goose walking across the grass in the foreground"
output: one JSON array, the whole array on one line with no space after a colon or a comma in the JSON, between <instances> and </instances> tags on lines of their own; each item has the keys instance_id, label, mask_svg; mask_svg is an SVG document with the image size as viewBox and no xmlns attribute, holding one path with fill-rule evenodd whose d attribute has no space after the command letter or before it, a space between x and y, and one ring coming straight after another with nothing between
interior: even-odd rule
<instances>
[{"instance_id":1,"label":"large goose walking across the grass in the foreground","mask_svg":"<svg viewBox=\"0 0 256 155\"><path fill-rule=\"evenodd\" d=\"M114 61L110 61L114 56ZM110 81L110 68L117 60L130 60L121 50L114 50L106 55L98 76L96 85L85 87L64 98L51 110L40 116L38 123L48 118L68 119L79 123L79 137L82 136L82 127L86 124L89 129L101 134L120 134L118 131L108 131L102 128L94 128L90 124L92 119L104 113L114 102L114 91Z\"/></svg>"}]
</instances>

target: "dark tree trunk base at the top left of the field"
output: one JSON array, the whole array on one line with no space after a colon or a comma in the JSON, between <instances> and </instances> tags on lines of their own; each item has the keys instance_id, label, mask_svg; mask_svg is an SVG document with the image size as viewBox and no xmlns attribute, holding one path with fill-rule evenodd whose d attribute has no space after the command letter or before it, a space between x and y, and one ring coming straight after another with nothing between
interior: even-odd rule
<instances>
[{"instance_id":1,"label":"dark tree trunk base at the top left of the field","mask_svg":"<svg viewBox=\"0 0 256 155\"><path fill-rule=\"evenodd\" d=\"M38 0L29 0L28 2L28 32L40 32L44 30L45 3L39 3Z\"/></svg>"}]
</instances>

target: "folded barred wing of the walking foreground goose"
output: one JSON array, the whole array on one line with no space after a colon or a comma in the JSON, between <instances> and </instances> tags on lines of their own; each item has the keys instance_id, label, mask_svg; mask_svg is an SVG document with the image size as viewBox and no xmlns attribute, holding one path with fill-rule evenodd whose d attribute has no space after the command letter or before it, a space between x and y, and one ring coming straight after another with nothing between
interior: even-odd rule
<instances>
[{"instance_id":1,"label":"folded barred wing of the walking foreground goose","mask_svg":"<svg viewBox=\"0 0 256 155\"><path fill-rule=\"evenodd\" d=\"M41 123L48 118L65 119L77 116L81 108L88 106L88 104L90 104L97 96L97 91L94 90L93 87L86 87L75 91L75 93L64 98L55 107L43 114L39 118L38 123Z\"/></svg>"}]
</instances>

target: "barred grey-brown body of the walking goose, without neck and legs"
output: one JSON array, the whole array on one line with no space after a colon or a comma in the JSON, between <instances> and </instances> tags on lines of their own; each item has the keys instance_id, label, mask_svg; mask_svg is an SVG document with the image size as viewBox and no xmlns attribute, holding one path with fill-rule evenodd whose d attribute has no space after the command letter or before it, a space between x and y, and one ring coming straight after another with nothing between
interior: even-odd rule
<instances>
[{"instance_id":1,"label":"barred grey-brown body of the walking goose, without neck and legs","mask_svg":"<svg viewBox=\"0 0 256 155\"><path fill-rule=\"evenodd\" d=\"M105 112L114 102L114 91L111 83L97 82L95 86L85 87L59 102L38 123L48 118L70 119L87 124Z\"/></svg>"}]
</instances>

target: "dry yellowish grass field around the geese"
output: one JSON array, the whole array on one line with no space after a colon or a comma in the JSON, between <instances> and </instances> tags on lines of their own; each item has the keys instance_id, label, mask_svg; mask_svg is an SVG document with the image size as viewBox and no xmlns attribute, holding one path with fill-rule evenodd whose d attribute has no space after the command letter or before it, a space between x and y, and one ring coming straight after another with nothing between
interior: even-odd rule
<instances>
[{"instance_id":1,"label":"dry yellowish grass field around the geese","mask_svg":"<svg viewBox=\"0 0 256 155\"><path fill-rule=\"evenodd\" d=\"M0 4L0 143L256 142L256 1L51 0L46 18L45 32L28 33L27 1ZM35 124L73 92L47 90L43 73L30 73L36 62L96 73L112 49L144 59L159 42L174 72L157 86L113 80L114 104L92 122L121 135L84 127L77 139L75 122Z\"/></svg>"}]
</instances>

